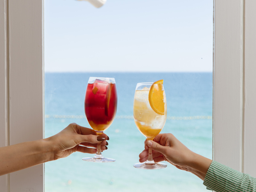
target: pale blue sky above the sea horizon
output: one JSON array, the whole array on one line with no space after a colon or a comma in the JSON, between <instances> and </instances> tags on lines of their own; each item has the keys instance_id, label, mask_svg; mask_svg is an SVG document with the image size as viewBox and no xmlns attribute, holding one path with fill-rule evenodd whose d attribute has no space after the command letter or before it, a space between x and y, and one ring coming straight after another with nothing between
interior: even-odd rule
<instances>
[{"instance_id":1,"label":"pale blue sky above the sea horizon","mask_svg":"<svg viewBox=\"0 0 256 192\"><path fill-rule=\"evenodd\" d=\"M45 71L212 72L212 12L212 0L45 0Z\"/></svg>"}]
</instances>

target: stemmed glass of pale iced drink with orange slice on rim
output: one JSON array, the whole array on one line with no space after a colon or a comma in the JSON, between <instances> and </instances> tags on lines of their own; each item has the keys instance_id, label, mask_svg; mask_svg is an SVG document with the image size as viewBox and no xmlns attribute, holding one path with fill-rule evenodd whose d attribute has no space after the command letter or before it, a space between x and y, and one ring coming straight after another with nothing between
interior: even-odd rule
<instances>
[{"instance_id":1,"label":"stemmed glass of pale iced drink with orange slice on rim","mask_svg":"<svg viewBox=\"0 0 256 192\"><path fill-rule=\"evenodd\" d=\"M134 121L139 131L147 138L153 140L163 129L166 122L166 95L162 84L138 83L134 95ZM162 105L162 106L160 106ZM158 107L160 106L160 110ZM139 169L163 169L164 163L155 163L152 149L148 149L148 159L144 163L134 164Z\"/></svg>"}]
</instances>

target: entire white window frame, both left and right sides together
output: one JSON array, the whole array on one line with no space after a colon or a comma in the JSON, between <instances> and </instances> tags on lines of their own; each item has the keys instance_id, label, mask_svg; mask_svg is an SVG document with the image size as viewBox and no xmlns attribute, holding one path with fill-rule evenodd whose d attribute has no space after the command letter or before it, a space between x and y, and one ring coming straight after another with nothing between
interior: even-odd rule
<instances>
[{"instance_id":1,"label":"entire white window frame, both left and right sides together","mask_svg":"<svg viewBox=\"0 0 256 192\"><path fill-rule=\"evenodd\" d=\"M256 1L214 0L213 159L256 177ZM0 0L0 146L44 137L44 0ZM252 152L250 152L252 151ZM44 165L0 176L44 192Z\"/></svg>"}]
</instances>

